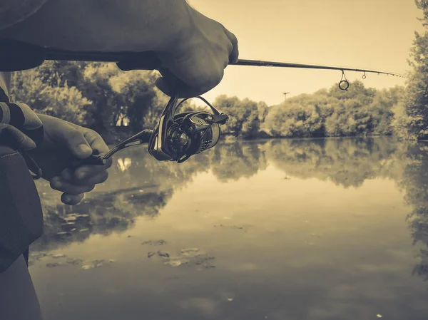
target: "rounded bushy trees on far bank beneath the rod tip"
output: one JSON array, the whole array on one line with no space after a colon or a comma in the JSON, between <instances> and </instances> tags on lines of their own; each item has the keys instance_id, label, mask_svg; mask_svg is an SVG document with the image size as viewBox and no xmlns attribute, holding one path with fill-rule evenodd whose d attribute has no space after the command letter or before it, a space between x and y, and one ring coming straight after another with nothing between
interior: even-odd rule
<instances>
[{"instance_id":1,"label":"rounded bushy trees on far bank beneath the rod tip","mask_svg":"<svg viewBox=\"0 0 428 320\"><path fill-rule=\"evenodd\" d=\"M348 91L302 94L270 108L263 128L274 137L309 138L348 135L389 135L394 105L404 88L384 91L355 81Z\"/></svg>"}]
</instances>

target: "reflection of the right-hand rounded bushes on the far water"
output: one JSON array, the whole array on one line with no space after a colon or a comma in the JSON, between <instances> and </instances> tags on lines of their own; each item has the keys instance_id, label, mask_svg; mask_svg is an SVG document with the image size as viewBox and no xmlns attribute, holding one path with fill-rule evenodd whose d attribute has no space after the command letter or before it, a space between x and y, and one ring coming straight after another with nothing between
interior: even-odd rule
<instances>
[{"instance_id":1,"label":"reflection of the right-hand rounded bushes on the far water","mask_svg":"<svg viewBox=\"0 0 428 320\"><path fill-rule=\"evenodd\" d=\"M390 138L272 140L266 153L288 175L360 187L365 180L397 177L397 148Z\"/></svg>"}]
</instances>

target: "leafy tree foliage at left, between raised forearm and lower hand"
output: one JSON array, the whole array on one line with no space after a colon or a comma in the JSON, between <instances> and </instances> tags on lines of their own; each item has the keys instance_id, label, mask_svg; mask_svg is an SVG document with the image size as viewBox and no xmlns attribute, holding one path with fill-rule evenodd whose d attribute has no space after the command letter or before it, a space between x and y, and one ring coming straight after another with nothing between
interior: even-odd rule
<instances>
[{"instance_id":1,"label":"leafy tree foliage at left, between raised forearm and lower hand","mask_svg":"<svg viewBox=\"0 0 428 320\"><path fill-rule=\"evenodd\" d=\"M11 96L39 113L86 125L104 138L126 126L135 133L153 128L168 97L154 86L153 71L123 72L114 63L47 61L13 74Z\"/></svg>"}]
</instances>

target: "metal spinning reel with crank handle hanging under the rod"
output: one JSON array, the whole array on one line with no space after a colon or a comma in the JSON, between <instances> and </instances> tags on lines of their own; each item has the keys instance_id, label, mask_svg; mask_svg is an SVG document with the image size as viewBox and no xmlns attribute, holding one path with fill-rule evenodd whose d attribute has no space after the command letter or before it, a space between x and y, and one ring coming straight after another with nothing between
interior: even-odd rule
<instances>
[{"instance_id":1,"label":"metal spinning reel with crank handle hanging under the rod","mask_svg":"<svg viewBox=\"0 0 428 320\"><path fill-rule=\"evenodd\" d=\"M203 100L213 113L205 110L177 113L183 103L189 98L178 102L178 95L171 96L163 109L156 127L153 130L143 130L131 138L124 140L111 149L106 155L91 155L76 164L104 165L114 153L133 145L148 143L148 153L158 161L175 161L178 163L188 160L192 155L213 148L220 140L220 125L225 124L229 116L220 113L207 100Z\"/></svg>"}]
</instances>

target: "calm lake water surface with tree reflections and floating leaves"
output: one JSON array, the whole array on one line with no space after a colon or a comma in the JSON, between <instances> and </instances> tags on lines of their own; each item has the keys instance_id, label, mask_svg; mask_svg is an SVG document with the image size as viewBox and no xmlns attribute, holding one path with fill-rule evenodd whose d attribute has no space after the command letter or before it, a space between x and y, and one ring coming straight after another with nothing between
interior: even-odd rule
<instances>
[{"instance_id":1,"label":"calm lake water surface with tree reflections and floating leaves","mask_svg":"<svg viewBox=\"0 0 428 320\"><path fill-rule=\"evenodd\" d=\"M427 147L270 140L180 165L134 148L74 207L38 182L46 320L428 319Z\"/></svg>"}]
</instances>

